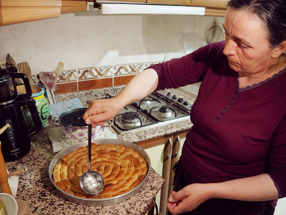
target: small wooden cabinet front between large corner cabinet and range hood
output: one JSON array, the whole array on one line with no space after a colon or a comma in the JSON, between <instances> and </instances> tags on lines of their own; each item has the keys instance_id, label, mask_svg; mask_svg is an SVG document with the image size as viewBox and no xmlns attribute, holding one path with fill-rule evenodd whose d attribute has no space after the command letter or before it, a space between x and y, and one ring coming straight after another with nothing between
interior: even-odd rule
<instances>
[{"instance_id":1,"label":"small wooden cabinet front between large corner cabinet and range hood","mask_svg":"<svg viewBox=\"0 0 286 215\"><path fill-rule=\"evenodd\" d=\"M87 6L87 0L62 0L61 13L85 12Z\"/></svg>"}]
</instances>

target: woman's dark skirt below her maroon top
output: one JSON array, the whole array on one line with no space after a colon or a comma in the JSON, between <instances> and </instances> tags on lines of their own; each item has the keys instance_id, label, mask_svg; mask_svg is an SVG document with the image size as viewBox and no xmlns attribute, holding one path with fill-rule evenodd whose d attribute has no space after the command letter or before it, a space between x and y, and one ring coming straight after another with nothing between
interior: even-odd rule
<instances>
[{"instance_id":1,"label":"woman's dark skirt below her maroon top","mask_svg":"<svg viewBox=\"0 0 286 215\"><path fill-rule=\"evenodd\" d=\"M191 182L188 180L186 175L184 174L184 171L182 170L182 167L180 165L180 161L178 161L174 168L173 168L175 175L174 175L174 182L173 182L173 190L179 191L185 186L191 184ZM212 198L209 199L202 204L200 204L196 209L182 213L182 215L243 215L233 209L229 204L226 204L227 200L225 199L218 199L218 198ZM169 212L169 215L171 213ZM259 211L257 215L273 215L274 214L274 208L269 202L266 202L263 205L263 208Z\"/></svg>"}]
</instances>

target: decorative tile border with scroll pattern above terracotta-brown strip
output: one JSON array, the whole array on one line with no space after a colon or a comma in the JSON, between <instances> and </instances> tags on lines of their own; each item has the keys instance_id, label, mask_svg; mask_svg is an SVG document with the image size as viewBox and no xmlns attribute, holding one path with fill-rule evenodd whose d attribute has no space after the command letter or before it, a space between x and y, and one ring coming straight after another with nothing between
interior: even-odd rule
<instances>
[{"instance_id":1,"label":"decorative tile border with scroll pattern above terracotta-brown strip","mask_svg":"<svg viewBox=\"0 0 286 215\"><path fill-rule=\"evenodd\" d=\"M159 62L104 66L78 70L64 70L62 75L58 77L57 84L61 93L67 93L69 90L74 92L76 89L77 91L85 90L85 83L87 89L91 89L92 87L94 87L93 89L110 87L116 86L118 84L122 85L128 83L128 81L134 75L155 63ZM110 80L113 80L112 84ZM36 84L38 82L39 74L32 75L32 84ZM91 85L92 83L94 84ZM73 87L70 88L69 86Z\"/></svg>"}]
</instances>

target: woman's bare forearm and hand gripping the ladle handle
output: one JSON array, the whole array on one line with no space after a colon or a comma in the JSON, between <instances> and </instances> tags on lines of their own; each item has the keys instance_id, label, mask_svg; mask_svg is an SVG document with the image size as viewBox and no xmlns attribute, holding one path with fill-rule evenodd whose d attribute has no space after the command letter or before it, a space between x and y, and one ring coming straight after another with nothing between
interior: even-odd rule
<instances>
[{"instance_id":1,"label":"woman's bare forearm and hand gripping the ladle handle","mask_svg":"<svg viewBox=\"0 0 286 215\"><path fill-rule=\"evenodd\" d=\"M104 121L114 118L127 104L143 99L158 85L158 75L154 69L145 69L135 75L118 95L111 99L92 100L82 118L86 124L104 125ZM88 114L93 114L88 116Z\"/></svg>"}]
</instances>

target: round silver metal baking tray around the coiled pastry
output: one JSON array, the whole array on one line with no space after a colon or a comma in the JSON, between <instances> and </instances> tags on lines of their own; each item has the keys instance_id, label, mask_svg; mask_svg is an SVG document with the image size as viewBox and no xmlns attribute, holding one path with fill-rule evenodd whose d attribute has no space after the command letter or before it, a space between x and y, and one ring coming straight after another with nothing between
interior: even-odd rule
<instances>
[{"instance_id":1,"label":"round silver metal baking tray around the coiled pastry","mask_svg":"<svg viewBox=\"0 0 286 215\"><path fill-rule=\"evenodd\" d=\"M77 150L80 147L85 147L88 145L88 141L84 141L78 144L74 144L71 145L67 148L64 148L63 150L61 150L60 152L58 152L55 157L51 160L51 163L49 165L49 179L51 181L51 183L55 186L55 188L58 190L58 192L61 194L61 196L63 196L65 199L80 204L80 205L86 205L86 206L107 206L107 205L111 205L111 204L116 204L118 202L122 202L128 198L130 198L131 196L134 196L143 186L144 182L147 180L147 177L150 173L150 168L151 168L151 162L150 162L150 158L148 156L148 154L140 147L137 146L134 143L130 143L130 142L126 142L123 140L116 140L116 139L96 139L96 140L92 140L93 143L95 144L121 144L125 147L130 147L133 148L136 152L138 152L138 154L140 156L142 156L144 158L144 160L146 161L147 167L148 167L148 172L146 177L143 179L143 181L138 184L138 186L136 188L134 188L133 190L130 190L127 193L124 193L120 196L115 196L112 198L106 198L106 199L86 199L86 198L81 198L81 197L77 197L71 194L68 194L66 192L64 192L63 190L61 190L58 186L56 186L56 184L53 182L53 169L55 167L55 165L57 165L57 163L63 158L63 156Z\"/></svg>"}]
</instances>

